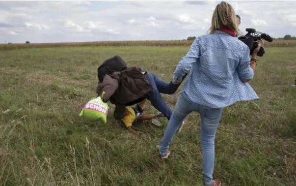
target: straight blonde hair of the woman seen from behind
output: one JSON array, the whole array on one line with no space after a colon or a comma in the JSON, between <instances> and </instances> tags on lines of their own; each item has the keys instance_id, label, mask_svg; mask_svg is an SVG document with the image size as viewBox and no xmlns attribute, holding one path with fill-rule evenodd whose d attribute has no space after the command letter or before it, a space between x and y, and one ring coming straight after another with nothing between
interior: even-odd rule
<instances>
[{"instance_id":1,"label":"straight blonde hair of the woman seen from behind","mask_svg":"<svg viewBox=\"0 0 296 186\"><path fill-rule=\"evenodd\" d=\"M211 34L214 30L221 28L233 30L235 33L238 33L235 11L226 2L221 2L216 6L208 32Z\"/></svg>"}]
</instances>

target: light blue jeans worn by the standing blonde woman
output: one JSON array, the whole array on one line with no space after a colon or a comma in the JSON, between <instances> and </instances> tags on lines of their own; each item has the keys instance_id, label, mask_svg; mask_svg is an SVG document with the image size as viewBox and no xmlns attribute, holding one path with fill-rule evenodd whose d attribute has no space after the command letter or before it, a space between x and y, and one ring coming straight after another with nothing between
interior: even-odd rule
<instances>
[{"instance_id":1,"label":"light blue jeans worn by the standing blonde woman","mask_svg":"<svg viewBox=\"0 0 296 186\"><path fill-rule=\"evenodd\" d=\"M160 142L160 153L165 154L169 145L179 129L183 119L193 111L200 113L201 117L201 147L202 147L202 169L205 184L211 183L213 177L215 158L215 135L222 116L222 109L209 108L192 102L185 92L182 92L175 105L172 117Z\"/></svg>"}]
</instances>

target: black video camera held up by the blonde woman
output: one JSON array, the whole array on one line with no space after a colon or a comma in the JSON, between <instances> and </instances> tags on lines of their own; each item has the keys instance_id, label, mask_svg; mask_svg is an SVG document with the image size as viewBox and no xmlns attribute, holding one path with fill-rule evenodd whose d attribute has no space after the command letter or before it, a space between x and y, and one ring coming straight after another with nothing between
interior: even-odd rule
<instances>
[{"instance_id":1,"label":"black video camera held up by the blonde woman","mask_svg":"<svg viewBox=\"0 0 296 186\"><path fill-rule=\"evenodd\" d=\"M258 40L264 39L268 42L273 42L273 38L270 37L270 35L256 32L256 29L254 28L246 28L246 31L248 33L245 36L238 37L238 39L244 42L250 48L250 55L252 55L254 49L258 47ZM262 57L264 53L264 47L260 47L257 55Z\"/></svg>"}]
</instances>

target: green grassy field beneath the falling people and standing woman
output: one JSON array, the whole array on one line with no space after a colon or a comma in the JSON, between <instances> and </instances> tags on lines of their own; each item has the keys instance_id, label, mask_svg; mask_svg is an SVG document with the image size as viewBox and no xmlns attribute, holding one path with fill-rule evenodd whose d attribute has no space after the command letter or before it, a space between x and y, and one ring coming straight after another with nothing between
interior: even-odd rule
<instances>
[{"instance_id":1,"label":"green grassy field beneath the falling people and standing woman","mask_svg":"<svg viewBox=\"0 0 296 186\"><path fill-rule=\"evenodd\" d=\"M97 68L120 55L169 81L189 47L60 47L0 51L0 185L201 185L200 120L192 113L158 150L167 121L135 136L115 121L79 118ZM295 48L266 49L251 85L260 97L224 109L214 177L223 185L296 185ZM179 89L180 90L180 89ZM178 91L179 91L178 90ZM175 95L164 95L173 108ZM146 113L156 110L148 103Z\"/></svg>"}]
</instances>

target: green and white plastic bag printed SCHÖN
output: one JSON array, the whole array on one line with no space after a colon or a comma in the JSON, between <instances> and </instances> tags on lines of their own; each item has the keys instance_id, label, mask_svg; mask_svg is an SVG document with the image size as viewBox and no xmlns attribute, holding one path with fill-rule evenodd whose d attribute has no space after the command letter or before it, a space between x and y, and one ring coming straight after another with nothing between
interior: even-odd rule
<instances>
[{"instance_id":1,"label":"green and white plastic bag printed SCH\u00d6N","mask_svg":"<svg viewBox=\"0 0 296 186\"><path fill-rule=\"evenodd\" d=\"M104 93L104 92L103 92ZM102 95L103 96L103 95ZM79 116L91 121L100 119L104 123L107 122L108 104L101 99L102 96L93 98L89 101L80 112Z\"/></svg>"}]
</instances>

